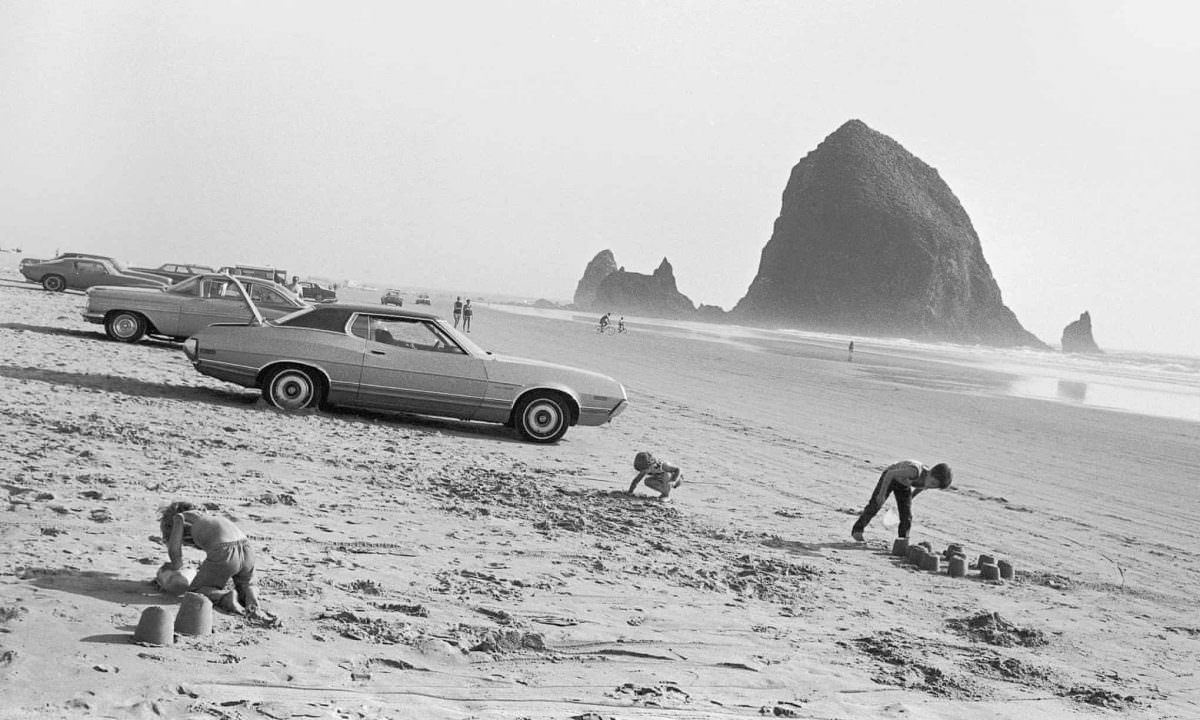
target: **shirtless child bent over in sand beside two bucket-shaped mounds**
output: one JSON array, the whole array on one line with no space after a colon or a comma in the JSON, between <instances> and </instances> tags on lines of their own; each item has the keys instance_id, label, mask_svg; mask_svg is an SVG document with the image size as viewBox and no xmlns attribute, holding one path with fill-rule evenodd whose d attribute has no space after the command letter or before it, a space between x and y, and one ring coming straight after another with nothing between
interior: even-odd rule
<instances>
[{"instance_id":1,"label":"shirtless child bent over in sand beside two bucket-shaped mounds","mask_svg":"<svg viewBox=\"0 0 1200 720\"><path fill-rule=\"evenodd\" d=\"M187 588L190 592L204 595L214 607L226 612L257 620L275 620L258 606L254 551L241 528L224 517L206 515L186 500L175 500L163 508L158 527L170 558L163 568L179 570L182 566L185 544L205 553ZM233 590L228 589L230 580Z\"/></svg>"}]
</instances>

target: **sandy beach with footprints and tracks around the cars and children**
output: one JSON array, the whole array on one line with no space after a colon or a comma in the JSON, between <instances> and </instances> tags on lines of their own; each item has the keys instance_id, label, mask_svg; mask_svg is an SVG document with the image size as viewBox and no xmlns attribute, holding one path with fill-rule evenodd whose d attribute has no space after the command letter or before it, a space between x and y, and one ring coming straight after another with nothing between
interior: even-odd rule
<instances>
[{"instance_id":1,"label":"sandy beach with footprints and tracks around the cars and children","mask_svg":"<svg viewBox=\"0 0 1200 720\"><path fill-rule=\"evenodd\" d=\"M970 396L864 343L848 364L481 307L484 347L629 389L536 446L281 414L7 277L0 716L1200 716L1198 424ZM672 503L619 494L640 449L684 468ZM878 520L848 541L906 457L956 473L914 539L1015 581L917 571ZM150 583L174 498L252 536L281 628L131 642L179 602Z\"/></svg>"}]
</instances>

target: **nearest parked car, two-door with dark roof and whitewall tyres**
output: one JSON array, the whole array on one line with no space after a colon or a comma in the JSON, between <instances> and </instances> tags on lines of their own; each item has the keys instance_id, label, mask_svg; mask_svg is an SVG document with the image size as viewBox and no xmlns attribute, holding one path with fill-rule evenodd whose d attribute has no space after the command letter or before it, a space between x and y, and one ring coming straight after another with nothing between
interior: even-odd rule
<instances>
[{"instance_id":1,"label":"nearest parked car, two-door with dark roof and whitewall tyres","mask_svg":"<svg viewBox=\"0 0 1200 720\"><path fill-rule=\"evenodd\" d=\"M347 406L503 422L534 443L604 425L628 403L607 376L493 355L433 314L379 305L209 325L184 352L200 373L259 388L281 410Z\"/></svg>"}]
</instances>

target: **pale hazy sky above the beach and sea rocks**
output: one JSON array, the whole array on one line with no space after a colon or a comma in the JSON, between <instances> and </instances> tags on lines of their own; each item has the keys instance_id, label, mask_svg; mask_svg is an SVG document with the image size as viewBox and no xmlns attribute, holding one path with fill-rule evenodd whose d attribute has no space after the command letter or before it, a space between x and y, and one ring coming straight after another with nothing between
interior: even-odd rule
<instances>
[{"instance_id":1,"label":"pale hazy sky above the beach and sea rocks","mask_svg":"<svg viewBox=\"0 0 1200 720\"><path fill-rule=\"evenodd\" d=\"M1042 340L1200 355L1200 4L0 0L0 247L732 307L857 118Z\"/></svg>"}]
</instances>

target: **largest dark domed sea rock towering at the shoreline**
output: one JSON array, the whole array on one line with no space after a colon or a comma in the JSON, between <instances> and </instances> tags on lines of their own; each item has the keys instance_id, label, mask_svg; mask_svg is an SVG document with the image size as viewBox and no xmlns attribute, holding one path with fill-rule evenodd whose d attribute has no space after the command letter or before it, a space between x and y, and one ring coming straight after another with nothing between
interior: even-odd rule
<instances>
[{"instance_id":1,"label":"largest dark domed sea rock towering at the shoreline","mask_svg":"<svg viewBox=\"0 0 1200 720\"><path fill-rule=\"evenodd\" d=\"M856 335L1046 347L1000 295L937 170L851 120L792 168L734 318Z\"/></svg>"}]
</instances>

